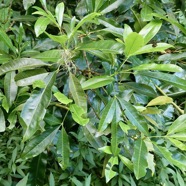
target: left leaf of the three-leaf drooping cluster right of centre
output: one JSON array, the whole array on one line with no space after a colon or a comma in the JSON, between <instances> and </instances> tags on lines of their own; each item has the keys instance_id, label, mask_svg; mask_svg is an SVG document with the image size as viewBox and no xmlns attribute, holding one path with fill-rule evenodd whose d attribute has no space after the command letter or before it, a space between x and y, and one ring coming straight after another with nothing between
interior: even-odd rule
<instances>
[{"instance_id":1,"label":"left leaf of the three-leaf drooping cluster right of centre","mask_svg":"<svg viewBox=\"0 0 186 186\"><path fill-rule=\"evenodd\" d=\"M111 99L102 112L102 116L99 122L98 130L104 131L108 124L112 122L114 112L116 109L115 99Z\"/></svg>"}]
</instances>

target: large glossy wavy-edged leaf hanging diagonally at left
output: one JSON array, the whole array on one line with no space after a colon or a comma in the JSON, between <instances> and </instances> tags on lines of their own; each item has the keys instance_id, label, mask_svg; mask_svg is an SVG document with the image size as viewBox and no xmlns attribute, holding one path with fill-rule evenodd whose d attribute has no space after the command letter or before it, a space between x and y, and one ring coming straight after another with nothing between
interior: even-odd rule
<instances>
[{"instance_id":1,"label":"large glossy wavy-edged leaf hanging diagonally at left","mask_svg":"<svg viewBox=\"0 0 186 186\"><path fill-rule=\"evenodd\" d=\"M23 140L26 141L39 129L40 121L44 118L46 107L50 103L51 89L54 84L56 73L50 73L44 82L46 87L40 91L34 91L26 101L21 112L21 118L26 125Z\"/></svg>"}]
</instances>

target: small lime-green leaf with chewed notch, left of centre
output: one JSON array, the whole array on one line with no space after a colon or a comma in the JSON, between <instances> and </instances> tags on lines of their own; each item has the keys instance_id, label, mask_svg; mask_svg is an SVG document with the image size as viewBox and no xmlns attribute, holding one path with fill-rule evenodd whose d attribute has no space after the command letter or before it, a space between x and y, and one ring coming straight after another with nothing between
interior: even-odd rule
<instances>
[{"instance_id":1,"label":"small lime-green leaf with chewed notch, left of centre","mask_svg":"<svg viewBox=\"0 0 186 186\"><path fill-rule=\"evenodd\" d=\"M72 113L72 118L78 124L85 126L89 122L89 119L85 118L84 116L86 112L79 105L76 104L70 105L70 112Z\"/></svg>"}]
</instances>

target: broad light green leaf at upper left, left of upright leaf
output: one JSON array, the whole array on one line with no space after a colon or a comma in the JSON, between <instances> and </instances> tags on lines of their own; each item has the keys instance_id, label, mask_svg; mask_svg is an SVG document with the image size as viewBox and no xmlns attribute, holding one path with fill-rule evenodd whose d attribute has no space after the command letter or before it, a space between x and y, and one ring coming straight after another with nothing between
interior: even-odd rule
<instances>
[{"instance_id":1,"label":"broad light green leaf at upper left, left of upright leaf","mask_svg":"<svg viewBox=\"0 0 186 186\"><path fill-rule=\"evenodd\" d=\"M39 17L34 25L36 37L41 35L47 28L50 20L47 17Z\"/></svg>"}]
</instances>

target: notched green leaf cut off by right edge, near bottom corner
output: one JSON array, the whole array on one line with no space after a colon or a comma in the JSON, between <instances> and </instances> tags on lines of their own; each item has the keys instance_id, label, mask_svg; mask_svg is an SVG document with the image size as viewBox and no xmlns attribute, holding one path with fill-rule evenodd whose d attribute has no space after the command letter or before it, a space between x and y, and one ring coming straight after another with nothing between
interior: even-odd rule
<instances>
[{"instance_id":1,"label":"notched green leaf cut off by right edge, near bottom corner","mask_svg":"<svg viewBox=\"0 0 186 186\"><path fill-rule=\"evenodd\" d=\"M156 148L161 152L161 154L167 159L170 163L177 166L179 169L186 170L186 158L184 155L177 153L177 158L172 156L172 153L166 147L158 146L154 143Z\"/></svg>"}]
</instances>

